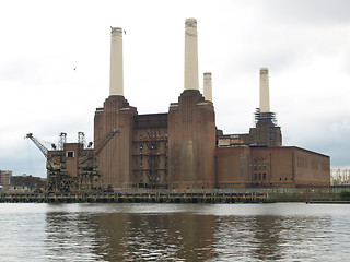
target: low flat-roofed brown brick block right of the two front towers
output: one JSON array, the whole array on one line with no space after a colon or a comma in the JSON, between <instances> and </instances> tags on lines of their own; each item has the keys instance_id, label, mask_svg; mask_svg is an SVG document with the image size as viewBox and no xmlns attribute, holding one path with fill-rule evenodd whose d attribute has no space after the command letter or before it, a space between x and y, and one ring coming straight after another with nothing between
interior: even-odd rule
<instances>
[{"instance_id":1,"label":"low flat-roofed brown brick block right of the two front towers","mask_svg":"<svg viewBox=\"0 0 350 262\"><path fill-rule=\"evenodd\" d=\"M217 148L218 188L329 186L329 157L295 146Z\"/></svg>"}]
</instances>

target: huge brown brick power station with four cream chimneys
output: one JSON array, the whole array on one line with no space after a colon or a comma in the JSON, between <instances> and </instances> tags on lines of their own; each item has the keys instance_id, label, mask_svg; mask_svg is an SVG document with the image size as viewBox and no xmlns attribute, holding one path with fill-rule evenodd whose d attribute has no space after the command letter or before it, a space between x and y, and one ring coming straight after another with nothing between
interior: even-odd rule
<instances>
[{"instance_id":1,"label":"huge brown brick power station with four cream chimneys","mask_svg":"<svg viewBox=\"0 0 350 262\"><path fill-rule=\"evenodd\" d=\"M197 21L187 19L184 91L168 112L139 115L124 96L122 29L112 28L109 96L94 116L95 147L118 130L96 158L103 188L329 186L329 156L282 146L267 68L260 69L255 127L246 134L224 134L215 127L211 73L203 75L202 94L197 50Z\"/></svg>"}]
</instances>

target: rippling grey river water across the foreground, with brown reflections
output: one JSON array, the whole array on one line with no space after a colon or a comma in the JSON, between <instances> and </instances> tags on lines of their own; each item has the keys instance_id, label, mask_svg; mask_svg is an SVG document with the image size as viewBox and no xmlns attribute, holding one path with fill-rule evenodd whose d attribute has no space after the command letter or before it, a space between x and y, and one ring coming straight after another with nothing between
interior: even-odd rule
<instances>
[{"instance_id":1,"label":"rippling grey river water across the foreground, with brown reflections","mask_svg":"<svg viewBox=\"0 0 350 262\"><path fill-rule=\"evenodd\" d=\"M0 261L349 261L337 204L0 204Z\"/></svg>"}]
</instances>

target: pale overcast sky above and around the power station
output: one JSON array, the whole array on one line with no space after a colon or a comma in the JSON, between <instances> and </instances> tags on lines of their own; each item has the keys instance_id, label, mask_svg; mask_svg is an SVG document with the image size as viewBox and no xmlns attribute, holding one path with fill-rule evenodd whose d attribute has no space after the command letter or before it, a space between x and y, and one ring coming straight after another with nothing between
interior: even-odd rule
<instances>
[{"instance_id":1,"label":"pale overcast sky above and around the power station","mask_svg":"<svg viewBox=\"0 0 350 262\"><path fill-rule=\"evenodd\" d=\"M211 72L219 129L253 127L267 67L283 145L349 167L349 10L348 0L1 1L0 169L46 177L30 132L93 140L109 91L110 26L126 31L125 97L139 114L167 112L184 88L187 17L197 19L200 90Z\"/></svg>"}]
</instances>

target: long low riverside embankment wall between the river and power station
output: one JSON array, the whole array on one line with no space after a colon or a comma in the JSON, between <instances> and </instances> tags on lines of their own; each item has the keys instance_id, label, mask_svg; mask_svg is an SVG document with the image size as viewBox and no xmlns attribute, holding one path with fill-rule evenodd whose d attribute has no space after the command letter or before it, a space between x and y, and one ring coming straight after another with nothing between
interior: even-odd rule
<instances>
[{"instance_id":1,"label":"long low riverside embankment wall between the river and power station","mask_svg":"<svg viewBox=\"0 0 350 262\"><path fill-rule=\"evenodd\" d=\"M1 193L10 203L349 203L345 188L250 188L250 189L118 189L90 193ZM350 191L350 188L349 188Z\"/></svg>"}]
</instances>

